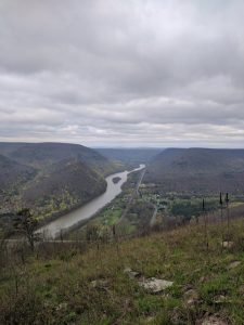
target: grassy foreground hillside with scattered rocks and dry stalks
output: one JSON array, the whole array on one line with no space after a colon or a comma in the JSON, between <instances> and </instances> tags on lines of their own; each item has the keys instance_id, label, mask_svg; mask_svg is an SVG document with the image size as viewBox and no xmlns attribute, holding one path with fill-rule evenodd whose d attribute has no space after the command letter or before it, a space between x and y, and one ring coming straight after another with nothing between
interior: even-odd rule
<instances>
[{"instance_id":1,"label":"grassy foreground hillside with scattered rocks and dry stalks","mask_svg":"<svg viewBox=\"0 0 244 325\"><path fill-rule=\"evenodd\" d=\"M208 250L203 225L189 225L117 244L46 244L14 264L9 257L0 323L244 324L244 221L231 222L231 248L221 248L220 230L208 226ZM140 285L151 277L174 284L153 294Z\"/></svg>"}]
</instances>

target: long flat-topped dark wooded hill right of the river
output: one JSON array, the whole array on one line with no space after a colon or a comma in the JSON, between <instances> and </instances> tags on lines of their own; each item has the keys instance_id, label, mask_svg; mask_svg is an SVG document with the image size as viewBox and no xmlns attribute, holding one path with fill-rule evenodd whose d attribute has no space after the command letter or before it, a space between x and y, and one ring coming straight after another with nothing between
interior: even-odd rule
<instances>
[{"instance_id":1,"label":"long flat-topped dark wooded hill right of the river","mask_svg":"<svg viewBox=\"0 0 244 325\"><path fill-rule=\"evenodd\" d=\"M243 192L244 150L168 148L150 164L145 182L165 192Z\"/></svg>"}]
</instances>

